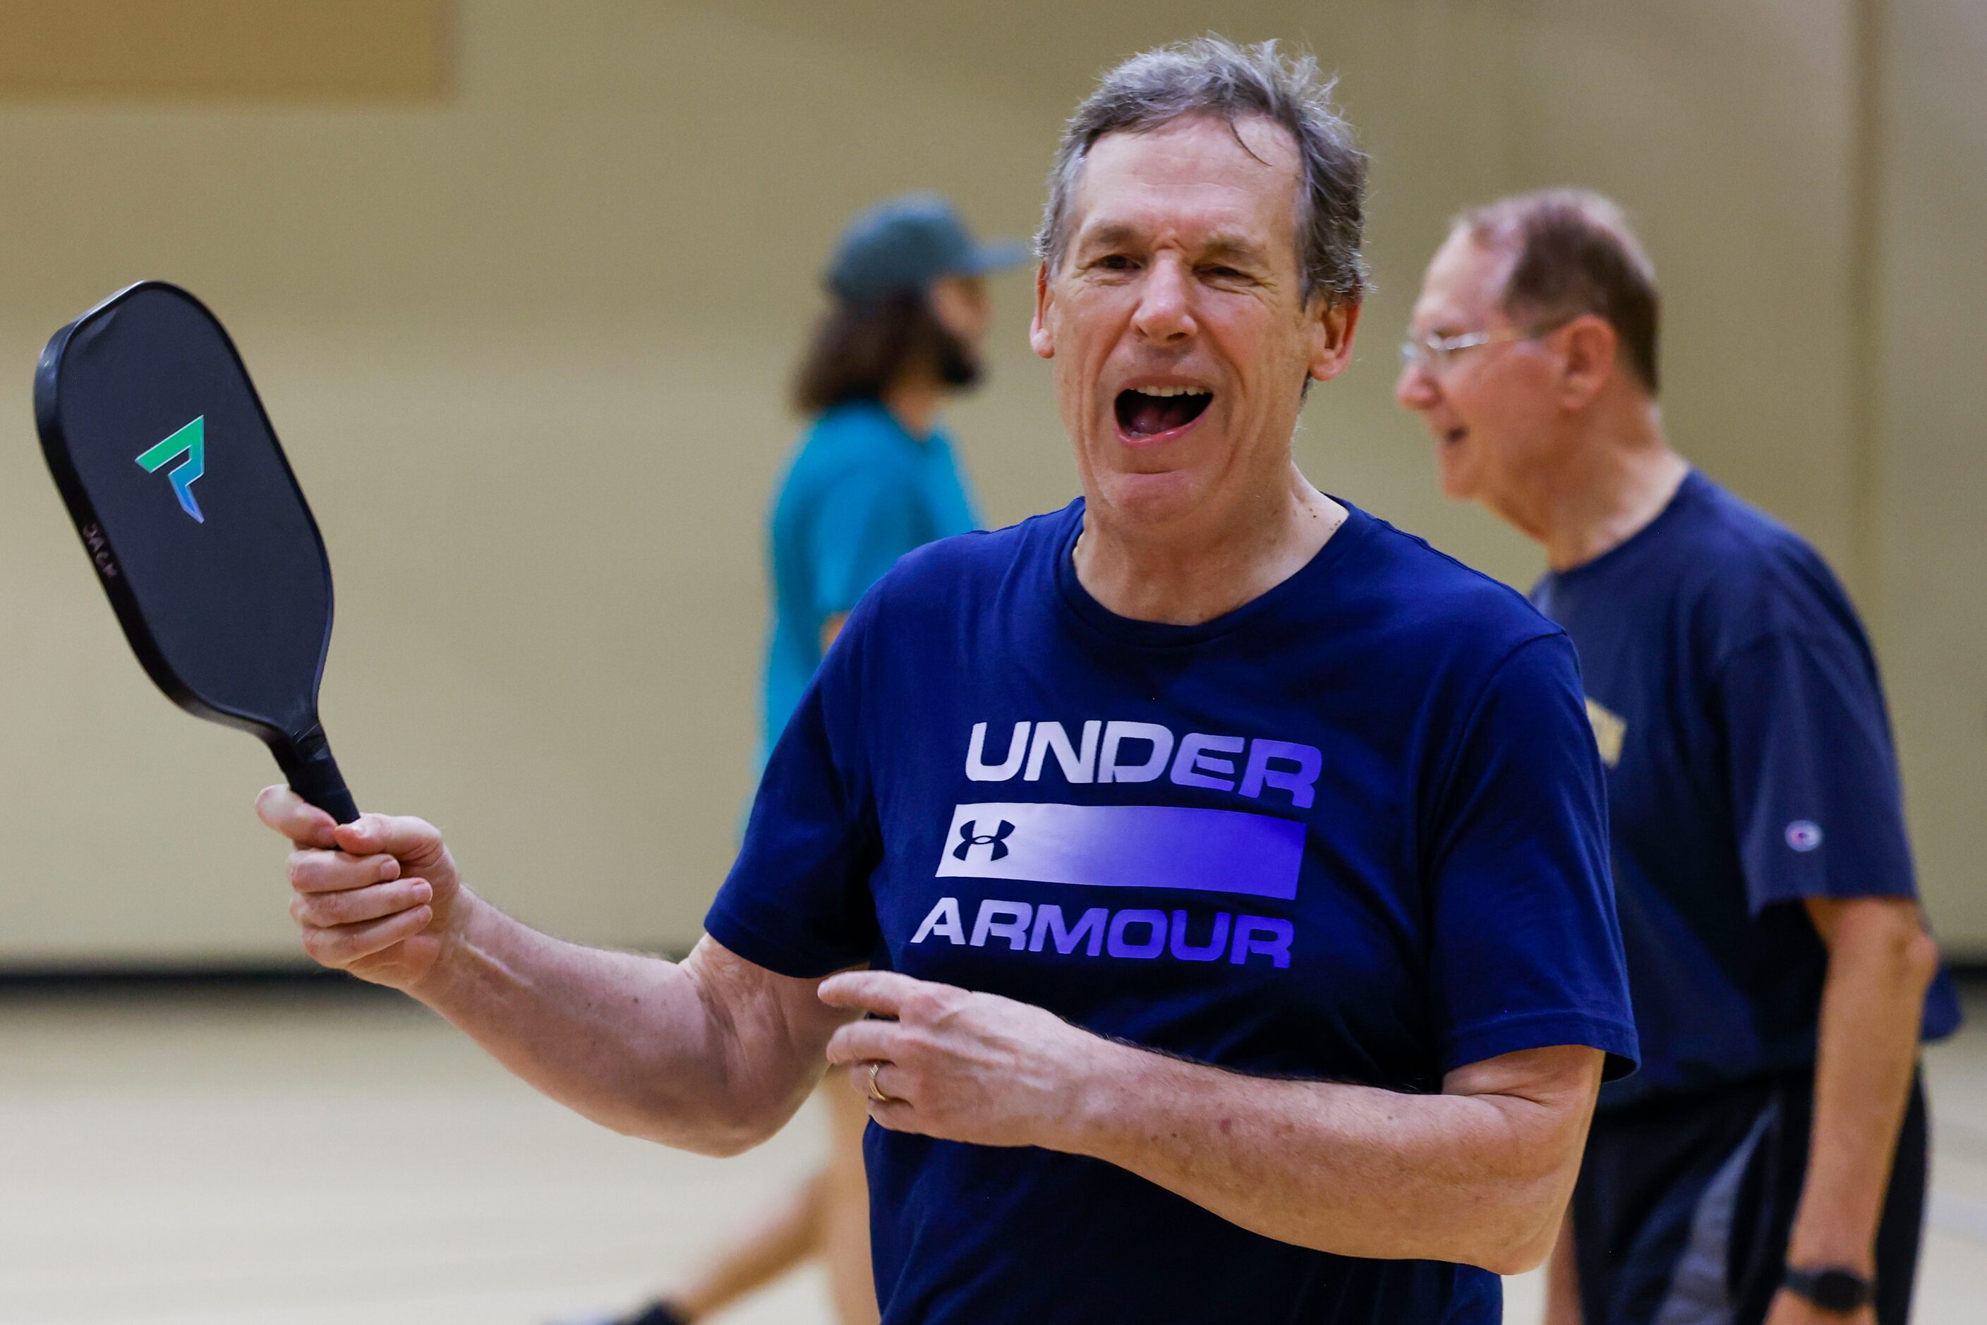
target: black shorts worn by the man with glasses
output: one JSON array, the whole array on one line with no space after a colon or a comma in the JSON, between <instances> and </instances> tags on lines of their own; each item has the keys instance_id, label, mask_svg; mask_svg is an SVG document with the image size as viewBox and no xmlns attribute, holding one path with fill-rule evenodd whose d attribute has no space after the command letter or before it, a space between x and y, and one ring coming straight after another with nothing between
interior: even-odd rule
<instances>
[{"instance_id":1,"label":"black shorts worn by the man with glasses","mask_svg":"<svg viewBox=\"0 0 1987 1325\"><path fill-rule=\"evenodd\" d=\"M1812 1073L1598 1114L1570 1214L1586 1325L1758 1325L1780 1285L1812 1114ZM1911 1311L1925 1152L1913 1081L1878 1228L1878 1325Z\"/></svg>"}]
</instances>

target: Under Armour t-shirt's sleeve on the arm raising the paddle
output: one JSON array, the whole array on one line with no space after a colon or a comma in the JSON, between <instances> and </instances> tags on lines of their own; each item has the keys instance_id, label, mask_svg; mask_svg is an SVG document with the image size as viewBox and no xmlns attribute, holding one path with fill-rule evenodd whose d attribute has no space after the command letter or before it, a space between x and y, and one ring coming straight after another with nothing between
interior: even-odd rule
<instances>
[{"instance_id":1,"label":"Under Armour t-shirt's sleeve on the arm raising the paddle","mask_svg":"<svg viewBox=\"0 0 1987 1325\"><path fill-rule=\"evenodd\" d=\"M703 928L769 971L813 979L870 959L882 858L856 721L874 602L837 636L773 745L737 862Z\"/></svg>"}]
</instances>

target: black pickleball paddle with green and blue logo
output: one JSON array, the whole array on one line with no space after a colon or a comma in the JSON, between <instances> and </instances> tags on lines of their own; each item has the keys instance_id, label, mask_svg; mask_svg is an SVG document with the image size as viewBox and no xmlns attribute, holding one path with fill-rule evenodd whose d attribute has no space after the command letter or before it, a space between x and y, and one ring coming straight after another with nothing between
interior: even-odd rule
<instances>
[{"instance_id":1,"label":"black pickleball paddle with green and blue logo","mask_svg":"<svg viewBox=\"0 0 1987 1325\"><path fill-rule=\"evenodd\" d=\"M221 322L161 280L119 290L50 338L34 421L159 689L256 733L300 797L358 818L318 723L332 564Z\"/></svg>"}]
</instances>

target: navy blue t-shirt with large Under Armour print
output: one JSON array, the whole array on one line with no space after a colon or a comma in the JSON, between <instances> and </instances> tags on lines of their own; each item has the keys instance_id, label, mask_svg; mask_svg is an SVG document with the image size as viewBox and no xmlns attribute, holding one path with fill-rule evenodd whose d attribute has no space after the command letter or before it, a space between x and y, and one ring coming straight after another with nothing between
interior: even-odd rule
<instances>
[{"instance_id":1,"label":"navy blue t-shirt with large Under Armour print","mask_svg":"<svg viewBox=\"0 0 1987 1325\"><path fill-rule=\"evenodd\" d=\"M707 928L1202 1063L1395 1091L1635 1055L1566 636L1357 511L1202 626L1077 582L1083 503L908 554L773 749ZM892 1325L1484 1323L1484 1269L1246 1232L1127 1170L870 1128Z\"/></svg>"}]
</instances>

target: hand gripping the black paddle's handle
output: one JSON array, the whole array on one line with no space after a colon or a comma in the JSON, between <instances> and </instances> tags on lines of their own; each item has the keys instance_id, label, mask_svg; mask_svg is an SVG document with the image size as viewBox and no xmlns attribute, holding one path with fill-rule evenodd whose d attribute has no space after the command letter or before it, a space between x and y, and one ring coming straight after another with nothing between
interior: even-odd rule
<instances>
[{"instance_id":1,"label":"hand gripping the black paddle's handle","mask_svg":"<svg viewBox=\"0 0 1987 1325\"><path fill-rule=\"evenodd\" d=\"M441 832L421 818L362 814L340 824L288 787L256 814L290 838L290 918L314 961L409 989L441 957L467 894Z\"/></svg>"}]
</instances>

